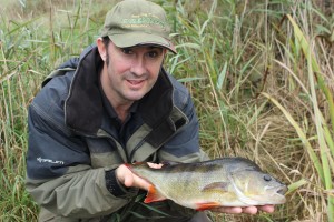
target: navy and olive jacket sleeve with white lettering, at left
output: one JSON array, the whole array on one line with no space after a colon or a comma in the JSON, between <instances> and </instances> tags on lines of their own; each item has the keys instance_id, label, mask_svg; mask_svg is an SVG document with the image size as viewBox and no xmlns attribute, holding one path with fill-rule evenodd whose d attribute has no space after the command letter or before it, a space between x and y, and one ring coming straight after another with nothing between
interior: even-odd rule
<instances>
[{"instance_id":1,"label":"navy and olive jacket sleeve with white lettering, at left","mask_svg":"<svg viewBox=\"0 0 334 222\"><path fill-rule=\"evenodd\" d=\"M51 101L45 103L41 97L30 105L28 121L27 190L35 201L71 218L106 215L127 204L136 189L115 196L106 185L106 172L118 165L92 169L85 141L63 124L63 110L53 101L57 97L46 97Z\"/></svg>"}]
</instances>

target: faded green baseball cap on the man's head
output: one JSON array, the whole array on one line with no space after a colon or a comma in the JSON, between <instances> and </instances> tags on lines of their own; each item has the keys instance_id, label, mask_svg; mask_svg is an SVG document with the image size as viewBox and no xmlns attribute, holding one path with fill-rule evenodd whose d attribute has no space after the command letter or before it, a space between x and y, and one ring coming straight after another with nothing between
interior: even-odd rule
<instances>
[{"instance_id":1,"label":"faded green baseball cap on the man's head","mask_svg":"<svg viewBox=\"0 0 334 222\"><path fill-rule=\"evenodd\" d=\"M107 13L101 37L109 37L119 48L153 44L176 53L169 32L160 6L146 0L125 0Z\"/></svg>"}]
</instances>

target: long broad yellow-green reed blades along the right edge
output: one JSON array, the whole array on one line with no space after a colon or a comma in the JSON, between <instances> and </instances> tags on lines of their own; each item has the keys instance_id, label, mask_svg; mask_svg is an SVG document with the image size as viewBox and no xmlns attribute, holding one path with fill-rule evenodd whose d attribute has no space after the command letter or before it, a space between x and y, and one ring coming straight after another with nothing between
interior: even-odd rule
<instances>
[{"instance_id":1,"label":"long broad yellow-green reed blades along the right edge","mask_svg":"<svg viewBox=\"0 0 334 222\"><path fill-rule=\"evenodd\" d=\"M305 74L306 77L303 78L306 79L308 85L304 85L296 73L291 70L289 72L294 78L292 81L296 81L301 84L299 87L303 89L304 93L303 97L305 97L307 102L311 104L308 113L312 115L312 123L315 125L315 130L312 132L303 130L291 113L288 113L288 111L274 98L266 93L264 93L264 95L271 99L284 112L287 120L296 129L299 139L307 150L308 157L316 169L317 176L320 178L320 184L316 184L316 190L317 194L321 195L323 200L326 200L327 204L324 211L327 213L327 220L334 221L334 101L333 90L330 89L330 87L333 87L334 72L333 70L327 69L328 65L333 65L333 56L331 56L330 50L323 51L325 53L321 53L321 51L318 51L318 49L324 49L326 46L323 41L316 39L315 33L310 33L306 37L292 16L287 14L287 19L293 29L294 39L291 42L291 44L293 44L293 52L289 52L288 48L285 48L284 50L287 50L287 53L294 53L296 51L303 53L301 56L304 57L303 63L305 64L305 69L302 71L307 73ZM305 30L304 32L307 31L308 30ZM324 62L321 62L321 60L324 60ZM277 61L277 63L279 62ZM284 68L287 69L286 67ZM332 79L332 82L325 81L328 77ZM326 108L324 109L323 105ZM308 133L311 134L307 135ZM315 138L317 142L311 144L310 138Z\"/></svg>"}]
</instances>

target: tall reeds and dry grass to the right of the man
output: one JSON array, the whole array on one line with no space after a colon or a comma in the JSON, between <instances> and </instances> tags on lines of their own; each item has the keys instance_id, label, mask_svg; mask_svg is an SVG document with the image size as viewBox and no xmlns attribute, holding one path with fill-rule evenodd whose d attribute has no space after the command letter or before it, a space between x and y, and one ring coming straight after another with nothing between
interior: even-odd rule
<instances>
[{"instance_id":1,"label":"tall reeds and dry grass to the right of the man","mask_svg":"<svg viewBox=\"0 0 334 222\"><path fill-rule=\"evenodd\" d=\"M246 155L289 184L277 214L233 220L331 221L334 63L316 38L331 18L310 1L208 2L178 1L181 56L171 58L175 74L187 73L202 144L212 157Z\"/></svg>"}]
</instances>

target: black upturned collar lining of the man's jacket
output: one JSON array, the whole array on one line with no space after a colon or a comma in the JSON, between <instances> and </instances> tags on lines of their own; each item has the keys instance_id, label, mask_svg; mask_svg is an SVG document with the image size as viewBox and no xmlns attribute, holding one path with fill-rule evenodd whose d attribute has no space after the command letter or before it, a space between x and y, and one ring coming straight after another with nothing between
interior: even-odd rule
<instances>
[{"instance_id":1,"label":"black upturned collar lining of the man's jacket","mask_svg":"<svg viewBox=\"0 0 334 222\"><path fill-rule=\"evenodd\" d=\"M104 105L99 90L102 60L97 47L86 50L79 60L65 103L66 124L85 134L96 134L102 124ZM151 128L159 125L173 110L173 84L161 68L156 84L139 102L138 113Z\"/></svg>"}]
</instances>

